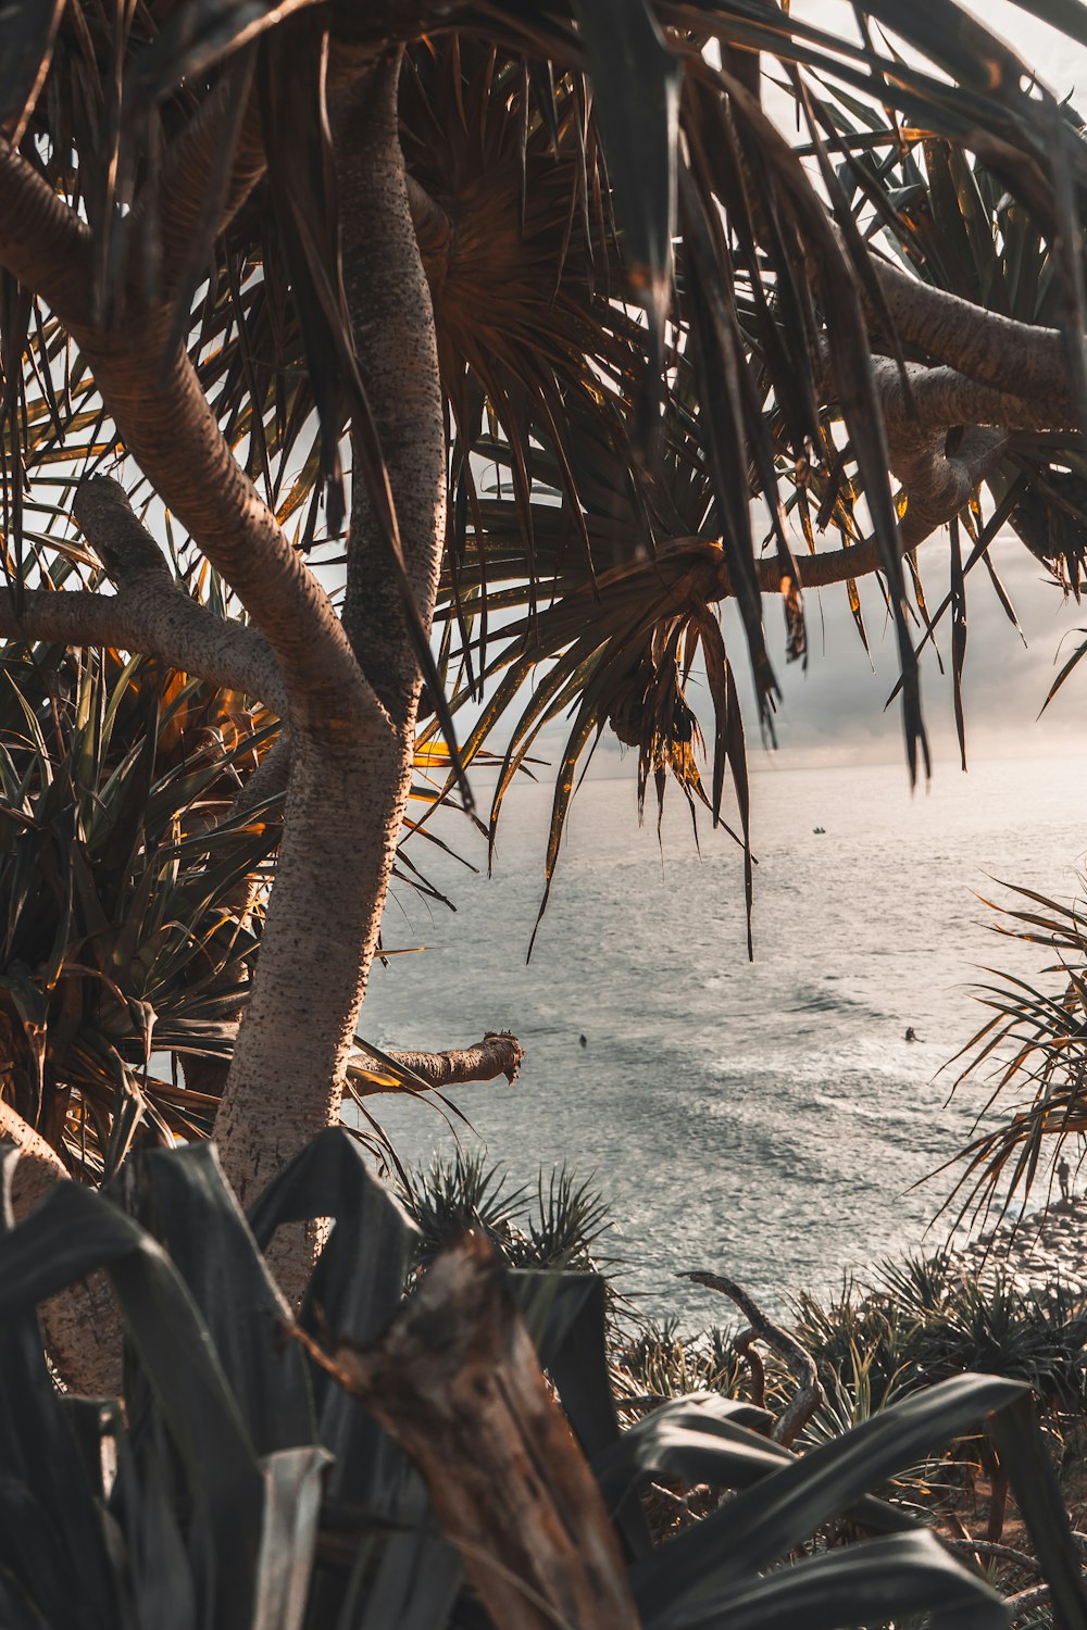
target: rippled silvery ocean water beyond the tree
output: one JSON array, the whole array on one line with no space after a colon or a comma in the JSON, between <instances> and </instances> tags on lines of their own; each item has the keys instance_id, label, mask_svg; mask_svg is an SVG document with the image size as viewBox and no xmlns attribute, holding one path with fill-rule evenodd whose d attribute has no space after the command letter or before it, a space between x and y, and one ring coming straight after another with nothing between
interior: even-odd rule
<instances>
[{"instance_id":1,"label":"rippled silvery ocean water beyond the tree","mask_svg":"<svg viewBox=\"0 0 1087 1630\"><path fill-rule=\"evenodd\" d=\"M416 844L458 910L396 890L386 945L429 949L375 968L362 1017L381 1046L515 1030L518 1082L451 1094L471 1126L373 1100L398 1152L425 1162L460 1138L533 1187L541 1164L592 1174L627 1294L688 1327L730 1312L680 1270L728 1273L781 1309L947 1237L950 1178L924 1178L984 1095L948 1104L940 1066L983 1020L979 967L1045 960L997 939L976 895L1001 879L1069 896L1087 848L1087 756L944 766L916 795L898 764L768 768L751 795L753 963L740 851L702 825L699 852L678 799L658 846L627 768L575 797L530 963L551 789L510 794L492 877ZM463 820L440 831L484 861Z\"/></svg>"}]
</instances>

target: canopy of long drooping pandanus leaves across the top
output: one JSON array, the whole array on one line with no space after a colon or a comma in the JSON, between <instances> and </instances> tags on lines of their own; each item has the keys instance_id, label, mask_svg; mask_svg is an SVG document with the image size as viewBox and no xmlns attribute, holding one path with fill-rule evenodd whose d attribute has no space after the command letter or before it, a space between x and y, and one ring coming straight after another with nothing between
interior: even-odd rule
<instances>
[{"instance_id":1,"label":"canopy of long drooping pandanus leaves across the top","mask_svg":"<svg viewBox=\"0 0 1087 1630\"><path fill-rule=\"evenodd\" d=\"M1082 34L1080 8L1059 26ZM740 606L772 732L763 595L781 597L786 659L802 659L794 549L818 553L828 526L875 548L908 755L924 756L913 629L927 639L931 621L898 551L867 244L996 313L1087 326L1079 122L981 23L952 0L924 13L880 0L856 41L769 0L500 3L486 20L425 0L288 18L223 0L108 18L70 0L20 7L7 28L0 108L88 225L96 311L121 326L171 302L171 337L227 440L315 564L342 561L349 422L352 481L376 494L386 478L342 297L337 88L354 60L404 47L401 139L450 448L440 680L456 706L487 703L468 758L517 709L492 831L508 773L572 712L548 880L577 774L611 727L637 750L642 797L675 779L719 822L732 784L750 890L735 655L715 606L722 593ZM766 117L764 65L797 98L807 156ZM202 183L183 197L191 173ZM49 308L3 287L18 590L34 540L52 536L36 526L47 482L73 479L51 471L109 458L116 435ZM1017 443L994 494L1010 491L1012 523L1074 587L1072 443ZM957 675L963 579L989 564L988 541L952 574ZM849 574L846 592L867 639Z\"/></svg>"}]
</instances>

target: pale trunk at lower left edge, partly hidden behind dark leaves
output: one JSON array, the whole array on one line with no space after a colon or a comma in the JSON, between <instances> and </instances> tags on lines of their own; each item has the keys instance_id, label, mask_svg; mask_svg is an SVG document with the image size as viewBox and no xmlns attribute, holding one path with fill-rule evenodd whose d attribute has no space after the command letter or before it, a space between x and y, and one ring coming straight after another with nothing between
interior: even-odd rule
<instances>
[{"instance_id":1,"label":"pale trunk at lower left edge, partly hidden behind dark leaves","mask_svg":"<svg viewBox=\"0 0 1087 1630\"><path fill-rule=\"evenodd\" d=\"M20 1151L11 1190L18 1221L54 1183L67 1183L70 1178L55 1149L3 1100L0 1139L13 1143ZM121 1317L104 1275L98 1273L51 1296L39 1314L49 1358L68 1390L90 1397L114 1397L121 1392Z\"/></svg>"}]
</instances>

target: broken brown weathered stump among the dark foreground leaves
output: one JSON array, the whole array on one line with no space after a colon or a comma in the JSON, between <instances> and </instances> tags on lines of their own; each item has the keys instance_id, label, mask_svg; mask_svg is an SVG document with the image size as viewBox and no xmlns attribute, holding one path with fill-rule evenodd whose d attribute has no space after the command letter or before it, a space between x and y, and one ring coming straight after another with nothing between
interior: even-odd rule
<instances>
[{"instance_id":1,"label":"broken brown weathered stump among the dark foreground leaves","mask_svg":"<svg viewBox=\"0 0 1087 1630\"><path fill-rule=\"evenodd\" d=\"M419 1467L494 1625L637 1630L600 1488L484 1240L438 1257L378 1346L308 1345Z\"/></svg>"}]
</instances>

